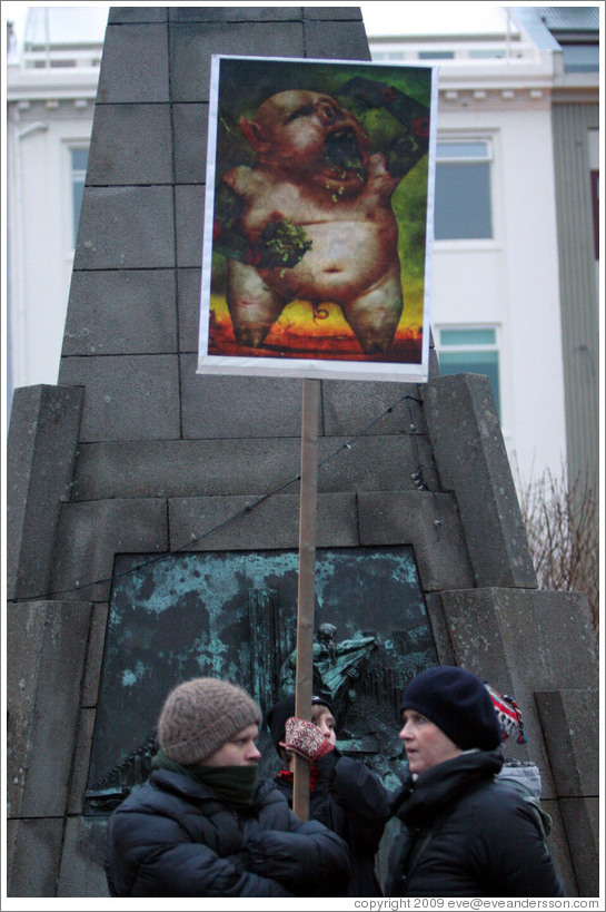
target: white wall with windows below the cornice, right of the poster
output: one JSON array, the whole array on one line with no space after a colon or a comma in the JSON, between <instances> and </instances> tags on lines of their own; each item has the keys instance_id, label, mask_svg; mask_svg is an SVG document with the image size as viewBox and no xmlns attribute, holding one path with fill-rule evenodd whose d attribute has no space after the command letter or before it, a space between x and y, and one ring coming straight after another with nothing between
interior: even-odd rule
<instances>
[{"instance_id":1,"label":"white wall with windows below the cornice, right of the poster","mask_svg":"<svg viewBox=\"0 0 606 912\"><path fill-rule=\"evenodd\" d=\"M438 357L443 372L469 370L480 349L490 346L490 371L483 372L494 379L513 468L526 480L548 465L557 468L566 457L550 114L545 95L513 86L511 80L506 88L459 87L444 92L438 118L437 190L444 165L450 168L453 184L479 161L486 173L480 186L471 186L479 198L469 203L486 207L485 224L463 226L463 233L481 236L453 237L455 217L434 244L431 325ZM450 164L453 156L457 158Z\"/></svg>"}]
</instances>

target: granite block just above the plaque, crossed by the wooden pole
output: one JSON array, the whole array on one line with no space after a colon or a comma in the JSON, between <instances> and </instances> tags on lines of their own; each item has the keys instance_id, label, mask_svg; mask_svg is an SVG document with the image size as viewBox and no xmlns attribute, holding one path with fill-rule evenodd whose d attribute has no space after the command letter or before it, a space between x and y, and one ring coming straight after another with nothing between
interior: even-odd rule
<instances>
[{"instance_id":1,"label":"granite block just above the plaque, crossed by the wooden pole","mask_svg":"<svg viewBox=\"0 0 606 912\"><path fill-rule=\"evenodd\" d=\"M299 547L298 493L169 500L170 547L188 551L237 551ZM352 493L318 494L316 545L359 545ZM212 531L216 530L216 531Z\"/></svg>"}]
</instances>

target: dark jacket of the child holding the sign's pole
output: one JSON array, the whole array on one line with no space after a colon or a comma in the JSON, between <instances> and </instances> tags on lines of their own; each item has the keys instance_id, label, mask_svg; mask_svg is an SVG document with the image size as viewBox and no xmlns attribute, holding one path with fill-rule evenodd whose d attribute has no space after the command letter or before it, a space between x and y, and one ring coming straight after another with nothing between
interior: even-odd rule
<instances>
[{"instance_id":1,"label":"dark jacket of the child holding the sign's pole","mask_svg":"<svg viewBox=\"0 0 606 912\"><path fill-rule=\"evenodd\" d=\"M351 879L347 896L381 896L375 854L390 814L390 793L364 763L334 748L314 764L318 771L309 796L309 817L338 833L349 846ZM314 768L312 767L312 768ZM292 779L276 777L292 805Z\"/></svg>"}]
</instances>

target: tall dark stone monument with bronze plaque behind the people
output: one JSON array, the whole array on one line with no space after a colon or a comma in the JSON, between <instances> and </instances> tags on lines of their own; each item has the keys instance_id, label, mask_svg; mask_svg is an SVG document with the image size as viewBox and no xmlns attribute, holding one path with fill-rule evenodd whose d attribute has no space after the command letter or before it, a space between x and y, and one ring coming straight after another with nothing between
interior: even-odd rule
<instances>
[{"instance_id":1,"label":"tall dark stone monument with bronze plaque behind the people","mask_svg":"<svg viewBox=\"0 0 606 912\"><path fill-rule=\"evenodd\" d=\"M369 59L357 8L110 10L59 382L16 391L9 433L9 896L108 895L107 813L179 676L288 679L300 381L196 373L219 52ZM474 670L523 708L568 895L597 895L596 636L583 595L537 589L488 380L322 381L319 448L344 749L389 778L406 681Z\"/></svg>"}]
</instances>

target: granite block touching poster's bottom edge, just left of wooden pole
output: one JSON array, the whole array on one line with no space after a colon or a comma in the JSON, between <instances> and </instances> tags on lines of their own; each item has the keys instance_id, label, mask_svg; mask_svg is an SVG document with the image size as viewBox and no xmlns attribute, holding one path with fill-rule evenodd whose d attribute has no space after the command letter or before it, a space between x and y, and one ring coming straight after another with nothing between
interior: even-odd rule
<instances>
[{"instance_id":1,"label":"granite block touching poster's bottom edge, just left of wooden pole","mask_svg":"<svg viewBox=\"0 0 606 912\"><path fill-rule=\"evenodd\" d=\"M183 438L300 435L300 380L197 374L190 354L180 366Z\"/></svg>"}]
</instances>

